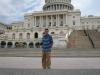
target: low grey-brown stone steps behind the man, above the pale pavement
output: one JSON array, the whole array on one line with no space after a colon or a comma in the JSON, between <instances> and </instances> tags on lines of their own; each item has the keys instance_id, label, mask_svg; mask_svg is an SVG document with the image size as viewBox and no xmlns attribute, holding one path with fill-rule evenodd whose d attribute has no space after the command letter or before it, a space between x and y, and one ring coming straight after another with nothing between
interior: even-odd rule
<instances>
[{"instance_id":1,"label":"low grey-brown stone steps behind the man, above the pale pavement","mask_svg":"<svg viewBox=\"0 0 100 75\"><path fill-rule=\"evenodd\" d=\"M41 57L42 52L40 50L8 50L1 51L1 57ZM100 57L99 49L65 49L65 50L53 50L51 56L53 57Z\"/></svg>"}]
</instances>

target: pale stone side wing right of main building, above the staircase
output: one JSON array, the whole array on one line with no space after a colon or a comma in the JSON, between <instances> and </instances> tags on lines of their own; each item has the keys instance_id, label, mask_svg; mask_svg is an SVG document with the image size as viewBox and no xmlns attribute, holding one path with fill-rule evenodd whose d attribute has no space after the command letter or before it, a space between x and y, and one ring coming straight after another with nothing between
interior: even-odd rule
<instances>
[{"instance_id":1,"label":"pale stone side wing right of main building, above the staircase","mask_svg":"<svg viewBox=\"0 0 100 75\"><path fill-rule=\"evenodd\" d=\"M100 17L99 16L85 16L81 17L81 26L85 30L99 30L100 29Z\"/></svg>"}]
</instances>

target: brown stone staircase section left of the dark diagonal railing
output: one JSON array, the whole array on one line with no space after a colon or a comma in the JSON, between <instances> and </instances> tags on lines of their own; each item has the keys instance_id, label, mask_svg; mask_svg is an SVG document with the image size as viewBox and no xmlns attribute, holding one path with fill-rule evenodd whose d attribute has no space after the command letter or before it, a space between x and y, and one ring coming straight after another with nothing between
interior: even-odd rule
<instances>
[{"instance_id":1,"label":"brown stone staircase section left of the dark diagonal railing","mask_svg":"<svg viewBox=\"0 0 100 75\"><path fill-rule=\"evenodd\" d=\"M68 48L93 48L83 30L73 31L69 37Z\"/></svg>"}]
</instances>

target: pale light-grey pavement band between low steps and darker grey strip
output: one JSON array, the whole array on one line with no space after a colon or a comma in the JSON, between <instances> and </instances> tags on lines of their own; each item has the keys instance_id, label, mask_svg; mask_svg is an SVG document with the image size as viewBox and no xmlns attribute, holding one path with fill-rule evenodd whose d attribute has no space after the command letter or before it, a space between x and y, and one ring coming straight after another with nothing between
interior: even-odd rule
<instances>
[{"instance_id":1,"label":"pale light-grey pavement band between low steps and darker grey strip","mask_svg":"<svg viewBox=\"0 0 100 75\"><path fill-rule=\"evenodd\" d=\"M42 69L41 58L0 57L0 68ZM100 69L100 58L52 58L52 69Z\"/></svg>"}]
</instances>

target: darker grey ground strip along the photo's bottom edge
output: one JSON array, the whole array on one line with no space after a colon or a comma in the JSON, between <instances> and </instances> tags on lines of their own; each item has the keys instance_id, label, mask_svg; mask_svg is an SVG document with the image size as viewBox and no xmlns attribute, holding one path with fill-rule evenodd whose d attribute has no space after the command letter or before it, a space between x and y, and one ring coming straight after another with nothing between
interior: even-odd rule
<instances>
[{"instance_id":1,"label":"darker grey ground strip along the photo's bottom edge","mask_svg":"<svg viewBox=\"0 0 100 75\"><path fill-rule=\"evenodd\" d=\"M0 75L100 75L100 69L0 69Z\"/></svg>"}]
</instances>

